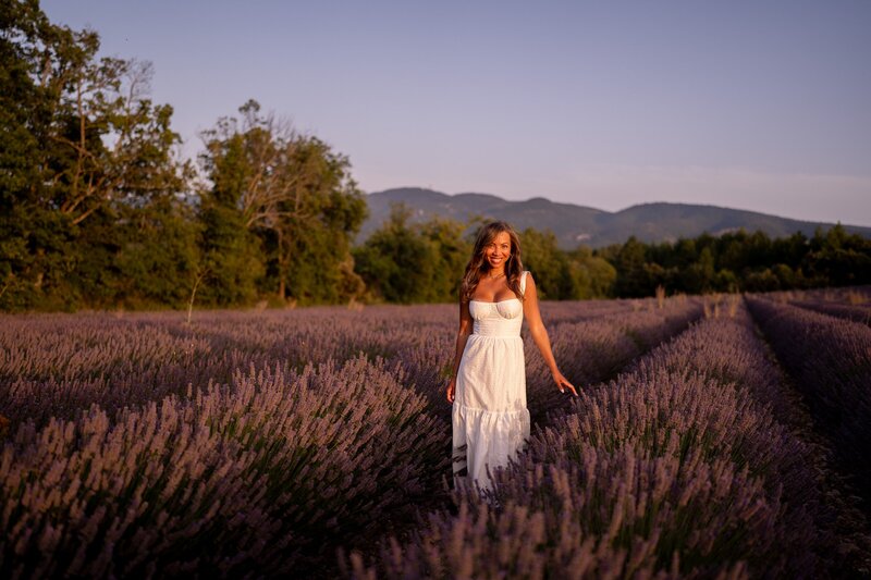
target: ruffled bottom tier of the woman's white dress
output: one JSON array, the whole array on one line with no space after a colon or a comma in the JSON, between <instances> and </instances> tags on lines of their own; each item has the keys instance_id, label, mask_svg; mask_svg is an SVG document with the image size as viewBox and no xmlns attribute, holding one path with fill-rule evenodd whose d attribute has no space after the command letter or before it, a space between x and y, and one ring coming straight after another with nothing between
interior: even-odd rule
<instances>
[{"instance_id":1,"label":"ruffled bottom tier of the woman's white dress","mask_svg":"<svg viewBox=\"0 0 871 580\"><path fill-rule=\"evenodd\" d=\"M487 468L505 466L529 439L529 410L490 411L454 404L453 471L489 486ZM464 473L465 472L465 473Z\"/></svg>"}]
</instances>

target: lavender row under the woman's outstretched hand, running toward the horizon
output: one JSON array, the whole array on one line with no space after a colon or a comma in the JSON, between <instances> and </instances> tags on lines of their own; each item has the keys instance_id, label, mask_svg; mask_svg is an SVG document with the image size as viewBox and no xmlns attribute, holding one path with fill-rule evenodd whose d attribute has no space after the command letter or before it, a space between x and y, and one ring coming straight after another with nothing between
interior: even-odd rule
<instances>
[{"instance_id":1,"label":"lavender row under the woman's outstretched hand, running toward the horizon","mask_svg":"<svg viewBox=\"0 0 871 580\"><path fill-rule=\"evenodd\" d=\"M375 560L352 554L345 573L831 576L821 459L787 423L809 421L746 313L706 319L582 393L492 495L461 491L458 515L431 514Z\"/></svg>"}]
</instances>

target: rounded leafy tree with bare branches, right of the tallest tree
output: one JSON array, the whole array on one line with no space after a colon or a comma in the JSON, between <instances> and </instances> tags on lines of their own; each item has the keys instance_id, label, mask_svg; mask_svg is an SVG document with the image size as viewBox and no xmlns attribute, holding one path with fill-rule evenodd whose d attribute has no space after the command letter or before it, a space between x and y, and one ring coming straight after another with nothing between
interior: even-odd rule
<instances>
[{"instance_id":1,"label":"rounded leafy tree with bare branches, right of the tallest tree","mask_svg":"<svg viewBox=\"0 0 871 580\"><path fill-rule=\"evenodd\" d=\"M212 275L212 285L259 281L261 289L281 300L308 303L358 294L351 238L368 207L348 159L275 115L262 114L254 100L240 108L240 116L220 119L203 137L200 160L210 182L203 194L207 263L226 274L222 264L249 255L253 245L262 257L249 259L247 271L256 275L245 281Z\"/></svg>"}]
</instances>

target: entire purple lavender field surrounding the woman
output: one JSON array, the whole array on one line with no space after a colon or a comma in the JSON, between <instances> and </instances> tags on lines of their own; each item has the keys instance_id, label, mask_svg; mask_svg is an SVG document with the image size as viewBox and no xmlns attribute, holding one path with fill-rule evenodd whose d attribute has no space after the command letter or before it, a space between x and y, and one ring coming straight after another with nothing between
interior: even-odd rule
<instances>
[{"instance_id":1,"label":"entire purple lavender field surrounding the woman","mask_svg":"<svg viewBox=\"0 0 871 580\"><path fill-rule=\"evenodd\" d=\"M4 578L871 573L871 288L544 303L450 481L456 306L0 318Z\"/></svg>"}]
</instances>

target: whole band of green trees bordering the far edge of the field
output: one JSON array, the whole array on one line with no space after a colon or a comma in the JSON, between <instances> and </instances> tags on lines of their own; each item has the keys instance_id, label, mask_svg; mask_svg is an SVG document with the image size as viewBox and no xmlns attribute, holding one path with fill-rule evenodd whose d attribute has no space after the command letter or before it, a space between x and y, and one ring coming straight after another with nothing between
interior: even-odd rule
<instances>
[{"instance_id":1,"label":"whole band of green trees bordering the far edge of the field","mask_svg":"<svg viewBox=\"0 0 871 580\"><path fill-rule=\"evenodd\" d=\"M183 159L152 70L98 58L99 36L2 1L0 309L179 308L456 299L480 221L414 223L407 208L354 245L367 217L346 156L250 100ZM520 233L551 299L868 283L869 242L842 227L769 239L559 248Z\"/></svg>"}]
</instances>

